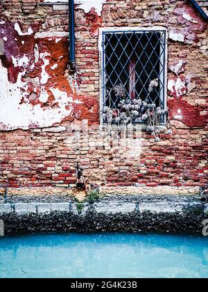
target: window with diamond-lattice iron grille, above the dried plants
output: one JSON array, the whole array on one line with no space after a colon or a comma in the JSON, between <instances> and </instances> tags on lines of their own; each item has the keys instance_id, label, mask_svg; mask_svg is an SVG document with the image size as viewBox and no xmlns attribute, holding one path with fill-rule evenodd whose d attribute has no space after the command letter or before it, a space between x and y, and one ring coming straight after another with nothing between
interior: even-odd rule
<instances>
[{"instance_id":1,"label":"window with diamond-lattice iron grille, above the dried plants","mask_svg":"<svg viewBox=\"0 0 208 292\"><path fill-rule=\"evenodd\" d=\"M166 106L166 30L102 31L102 111L121 99ZM152 86L157 83L157 86Z\"/></svg>"}]
</instances>

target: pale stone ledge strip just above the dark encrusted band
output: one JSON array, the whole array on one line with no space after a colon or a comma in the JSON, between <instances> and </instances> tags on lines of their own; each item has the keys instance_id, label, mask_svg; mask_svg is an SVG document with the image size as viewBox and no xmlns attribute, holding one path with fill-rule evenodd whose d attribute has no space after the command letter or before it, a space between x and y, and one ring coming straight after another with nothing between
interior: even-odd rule
<instances>
[{"instance_id":1,"label":"pale stone ledge strip just above the dark encrusted band","mask_svg":"<svg viewBox=\"0 0 208 292\"><path fill-rule=\"evenodd\" d=\"M18 202L18 203L6 203L0 204L0 215L3 213L17 213L21 214L31 214L36 213L44 214L44 213L53 213L53 212L64 212L64 213L76 213L83 215L88 211L93 211L95 213L132 213L138 211L139 213L144 213L146 211L150 213L183 213L184 211L193 211L200 210L202 213L208 213L208 204L202 204L201 202L192 201L192 202L168 202L167 200L163 200L162 202L125 202L123 200L114 200L107 202L103 200L99 200L94 204L89 204L89 202L85 203L77 203L77 202L55 202L55 203L42 203L42 202Z\"/></svg>"}]
</instances>

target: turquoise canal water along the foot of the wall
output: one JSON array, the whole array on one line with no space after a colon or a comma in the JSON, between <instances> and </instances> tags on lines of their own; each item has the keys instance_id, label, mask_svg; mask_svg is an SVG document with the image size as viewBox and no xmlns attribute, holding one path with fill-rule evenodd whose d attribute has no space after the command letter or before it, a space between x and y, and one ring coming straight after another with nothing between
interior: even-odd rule
<instances>
[{"instance_id":1,"label":"turquoise canal water along the foot of the wall","mask_svg":"<svg viewBox=\"0 0 208 292\"><path fill-rule=\"evenodd\" d=\"M208 238L43 234L0 238L0 277L208 277Z\"/></svg>"}]
</instances>

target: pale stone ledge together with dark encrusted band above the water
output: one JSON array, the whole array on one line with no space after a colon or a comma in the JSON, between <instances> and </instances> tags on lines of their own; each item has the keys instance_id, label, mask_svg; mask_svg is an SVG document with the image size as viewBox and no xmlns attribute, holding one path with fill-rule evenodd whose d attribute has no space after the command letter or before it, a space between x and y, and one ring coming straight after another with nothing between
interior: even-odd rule
<instances>
[{"instance_id":1,"label":"pale stone ledge together with dark encrusted band above the water","mask_svg":"<svg viewBox=\"0 0 208 292\"><path fill-rule=\"evenodd\" d=\"M0 204L0 219L10 232L175 232L200 234L208 204L136 202L117 197L110 202Z\"/></svg>"}]
</instances>

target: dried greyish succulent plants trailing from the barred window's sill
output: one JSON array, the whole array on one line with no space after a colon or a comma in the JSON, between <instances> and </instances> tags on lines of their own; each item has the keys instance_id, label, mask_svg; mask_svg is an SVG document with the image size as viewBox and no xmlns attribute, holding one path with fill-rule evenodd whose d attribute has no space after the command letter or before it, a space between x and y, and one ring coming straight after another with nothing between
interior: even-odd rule
<instances>
[{"instance_id":1,"label":"dried greyish succulent plants trailing from the barred window's sill","mask_svg":"<svg viewBox=\"0 0 208 292\"><path fill-rule=\"evenodd\" d=\"M148 95L153 92L154 88L159 86L158 79L150 81L148 88ZM144 102L138 99L125 99L125 88L119 85L112 90L116 97L119 97L118 108L111 108L105 106L103 108L103 121L111 127L112 124L123 125L126 127L128 124L136 122L144 123L147 125L146 131L150 132L155 141L159 142L159 135L172 133L168 120L168 109L157 107L155 103Z\"/></svg>"}]
</instances>

